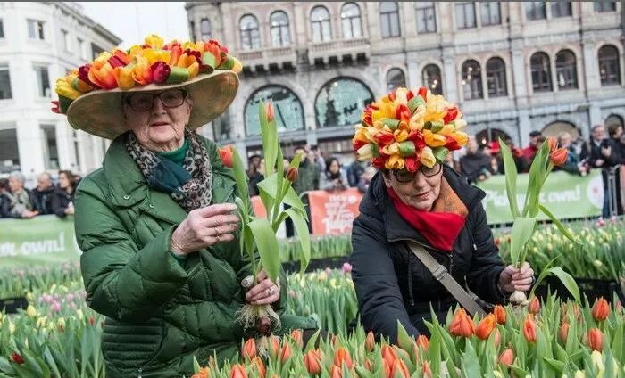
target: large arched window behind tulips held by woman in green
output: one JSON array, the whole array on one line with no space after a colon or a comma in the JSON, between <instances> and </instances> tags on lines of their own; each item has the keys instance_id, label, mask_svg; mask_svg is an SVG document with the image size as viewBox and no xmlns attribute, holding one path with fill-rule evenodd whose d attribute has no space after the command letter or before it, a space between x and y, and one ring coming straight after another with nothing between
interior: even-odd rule
<instances>
[{"instance_id":1,"label":"large arched window behind tulips held by woman in green","mask_svg":"<svg viewBox=\"0 0 625 378\"><path fill-rule=\"evenodd\" d=\"M246 103L246 135L261 134L258 122L258 103L273 103L278 131L304 130L304 107L293 91L286 86L263 86L247 100Z\"/></svg>"}]
</instances>

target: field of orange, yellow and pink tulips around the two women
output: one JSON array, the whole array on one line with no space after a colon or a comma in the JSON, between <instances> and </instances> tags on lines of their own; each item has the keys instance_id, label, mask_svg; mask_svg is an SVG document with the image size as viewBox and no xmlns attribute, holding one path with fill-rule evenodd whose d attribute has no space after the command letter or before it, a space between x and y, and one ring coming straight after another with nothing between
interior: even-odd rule
<instances>
[{"instance_id":1,"label":"field of orange, yellow and pink tulips around the two women","mask_svg":"<svg viewBox=\"0 0 625 378\"><path fill-rule=\"evenodd\" d=\"M536 270L556 258L579 278L621 283L625 272L622 219L567 225L582 238L575 246L542 226L529 242ZM507 235L496 231L506 259ZM287 261L296 243L283 242ZM324 251L328 249L330 251ZM312 259L349 253L348 237L312 241ZM254 340L241 341L241 357L218 364L200 359L194 377L625 377L625 313L615 296L582 303L554 295L530 297L527 307L498 306L485 318L450 311L429 325L429 338L400 328L397 345L376 341L348 323L357 316L351 266L291 274L287 310L312 316L324 330L304 345L294 331L271 339L268 356ZM0 298L25 296L28 308L0 315L0 377L104 377L100 349L104 318L85 302L79 268L0 269ZM314 338L313 338L314 339Z\"/></svg>"}]
</instances>

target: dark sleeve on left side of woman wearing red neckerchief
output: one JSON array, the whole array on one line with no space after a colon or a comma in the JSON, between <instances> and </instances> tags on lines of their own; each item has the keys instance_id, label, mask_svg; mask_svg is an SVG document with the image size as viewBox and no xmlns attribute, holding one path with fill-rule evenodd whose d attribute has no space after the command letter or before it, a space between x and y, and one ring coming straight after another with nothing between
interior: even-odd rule
<instances>
[{"instance_id":1,"label":"dark sleeve on left side of woman wearing red neckerchief","mask_svg":"<svg viewBox=\"0 0 625 378\"><path fill-rule=\"evenodd\" d=\"M388 242L379 234L379 230L384 227L381 222L371 218L372 222L379 223L379 227L365 226L363 218L366 217L361 214L354 220L354 252L350 257L362 325L365 329L396 342L399 321L408 334L417 336L419 331L411 324L404 308Z\"/></svg>"}]
</instances>

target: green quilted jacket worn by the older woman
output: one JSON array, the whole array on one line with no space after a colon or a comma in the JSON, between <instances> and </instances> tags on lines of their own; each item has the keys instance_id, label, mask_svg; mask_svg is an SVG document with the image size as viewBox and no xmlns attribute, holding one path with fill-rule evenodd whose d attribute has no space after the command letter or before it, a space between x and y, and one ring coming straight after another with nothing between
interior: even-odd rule
<instances>
[{"instance_id":1,"label":"green quilted jacket worn by the older woman","mask_svg":"<svg viewBox=\"0 0 625 378\"><path fill-rule=\"evenodd\" d=\"M106 316L107 378L188 376L194 356L200 364L213 354L237 357L245 337L235 323L245 303L240 282L250 273L238 241L174 259L171 233L187 212L147 186L122 138L111 144L103 168L80 182L75 198L87 303ZM233 202L232 171L216 144L201 140L212 164L212 203ZM287 280L280 282L274 308L282 332L316 327L311 319L284 314Z\"/></svg>"}]
</instances>

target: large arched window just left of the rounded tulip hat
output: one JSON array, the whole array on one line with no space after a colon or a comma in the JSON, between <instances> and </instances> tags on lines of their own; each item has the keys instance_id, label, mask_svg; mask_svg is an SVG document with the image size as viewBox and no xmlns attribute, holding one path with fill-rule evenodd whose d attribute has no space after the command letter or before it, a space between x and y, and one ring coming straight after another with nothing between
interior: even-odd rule
<instances>
[{"instance_id":1,"label":"large arched window just left of the rounded tulip hat","mask_svg":"<svg viewBox=\"0 0 625 378\"><path fill-rule=\"evenodd\" d=\"M314 100L317 127L352 126L361 121L364 107L373 101L371 90L355 78L330 80Z\"/></svg>"}]
</instances>

